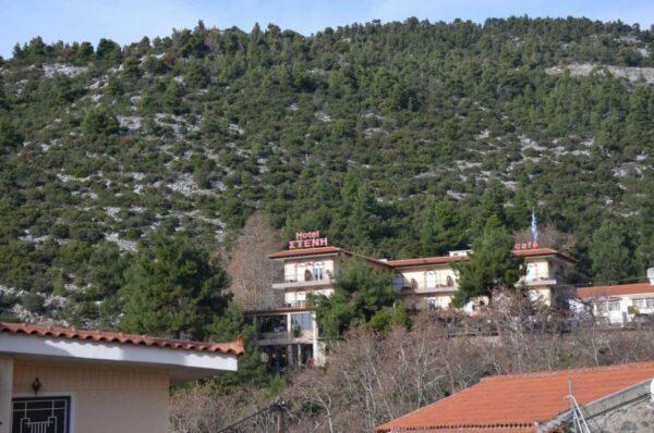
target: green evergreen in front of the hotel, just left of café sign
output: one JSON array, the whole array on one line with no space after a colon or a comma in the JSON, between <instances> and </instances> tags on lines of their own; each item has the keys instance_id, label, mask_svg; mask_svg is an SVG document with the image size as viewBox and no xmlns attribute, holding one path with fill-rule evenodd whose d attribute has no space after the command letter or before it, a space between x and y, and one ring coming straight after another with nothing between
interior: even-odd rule
<instances>
[{"instance_id":1,"label":"green evergreen in front of the hotel, just left of caf\u00e9 sign","mask_svg":"<svg viewBox=\"0 0 654 433\"><path fill-rule=\"evenodd\" d=\"M452 304L463 307L477 296L493 297L498 288L513 288L523 260L513 256L513 236L496 215L491 216L472 245L470 260L452 263L459 274L459 288Z\"/></svg>"}]
</instances>

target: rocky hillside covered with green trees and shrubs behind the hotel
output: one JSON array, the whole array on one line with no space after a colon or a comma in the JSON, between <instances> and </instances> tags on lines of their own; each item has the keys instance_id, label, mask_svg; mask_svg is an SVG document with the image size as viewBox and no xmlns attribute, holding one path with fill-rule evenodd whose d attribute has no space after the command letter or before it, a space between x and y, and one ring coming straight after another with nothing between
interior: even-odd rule
<instances>
[{"instance_id":1,"label":"rocky hillside covered with green trees and shrubs behind the hotel","mask_svg":"<svg viewBox=\"0 0 654 433\"><path fill-rule=\"evenodd\" d=\"M229 250L256 209L388 258L535 209L573 235L578 281L654 259L654 34L619 22L35 38L0 79L0 300L20 319L111 324L150 233Z\"/></svg>"}]
</instances>

